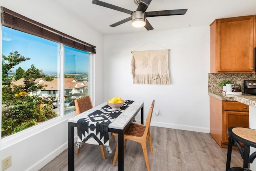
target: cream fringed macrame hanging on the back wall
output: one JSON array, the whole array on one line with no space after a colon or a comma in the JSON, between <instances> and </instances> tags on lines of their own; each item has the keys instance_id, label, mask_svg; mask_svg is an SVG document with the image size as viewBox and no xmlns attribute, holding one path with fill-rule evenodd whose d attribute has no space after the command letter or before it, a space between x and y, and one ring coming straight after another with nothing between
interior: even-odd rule
<instances>
[{"instance_id":1,"label":"cream fringed macrame hanging on the back wall","mask_svg":"<svg viewBox=\"0 0 256 171\"><path fill-rule=\"evenodd\" d=\"M170 84L168 57L168 49L133 51L133 84Z\"/></svg>"}]
</instances>

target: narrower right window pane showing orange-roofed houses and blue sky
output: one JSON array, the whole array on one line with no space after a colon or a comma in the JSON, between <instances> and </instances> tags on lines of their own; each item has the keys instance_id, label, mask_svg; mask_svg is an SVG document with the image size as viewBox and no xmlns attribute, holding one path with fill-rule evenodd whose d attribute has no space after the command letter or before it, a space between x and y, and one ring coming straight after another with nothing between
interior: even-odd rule
<instances>
[{"instance_id":1,"label":"narrower right window pane showing orange-roofed houses and blue sky","mask_svg":"<svg viewBox=\"0 0 256 171\"><path fill-rule=\"evenodd\" d=\"M89 53L64 46L64 114L75 111L74 99L89 95ZM71 104L66 101L72 101Z\"/></svg>"}]
</instances>

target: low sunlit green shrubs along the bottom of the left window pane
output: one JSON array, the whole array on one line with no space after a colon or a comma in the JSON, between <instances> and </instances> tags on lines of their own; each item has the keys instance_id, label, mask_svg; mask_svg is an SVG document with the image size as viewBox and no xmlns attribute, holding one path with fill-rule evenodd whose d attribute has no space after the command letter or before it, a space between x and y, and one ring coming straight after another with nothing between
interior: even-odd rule
<instances>
[{"instance_id":1,"label":"low sunlit green shrubs along the bottom of the left window pane","mask_svg":"<svg viewBox=\"0 0 256 171\"><path fill-rule=\"evenodd\" d=\"M2 108L2 136L8 136L57 116L52 110L52 104L43 103L41 98L29 95L17 98L13 105Z\"/></svg>"}]
</instances>

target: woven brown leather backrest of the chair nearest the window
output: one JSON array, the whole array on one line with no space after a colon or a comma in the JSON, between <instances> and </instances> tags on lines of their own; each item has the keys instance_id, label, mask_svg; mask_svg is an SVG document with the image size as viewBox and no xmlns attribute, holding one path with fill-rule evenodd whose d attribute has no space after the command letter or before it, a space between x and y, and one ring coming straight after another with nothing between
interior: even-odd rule
<instances>
[{"instance_id":1,"label":"woven brown leather backrest of the chair nearest the window","mask_svg":"<svg viewBox=\"0 0 256 171\"><path fill-rule=\"evenodd\" d=\"M92 109L92 100L90 95L75 99L76 115L83 113L89 109Z\"/></svg>"}]
</instances>

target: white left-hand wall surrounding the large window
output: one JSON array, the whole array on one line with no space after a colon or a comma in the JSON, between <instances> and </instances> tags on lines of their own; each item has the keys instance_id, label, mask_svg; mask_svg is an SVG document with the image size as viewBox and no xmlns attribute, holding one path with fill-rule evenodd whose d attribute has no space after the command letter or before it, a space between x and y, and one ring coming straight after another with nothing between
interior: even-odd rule
<instances>
[{"instance_id":1,"label":"white left-hand wall surrounding the large window","mask_svg":"<svg viewBox=\"0 0 256 171\"><path fill-rule=\"evenodd\" d=\"M92 93L95 98L92 101L94 105L104 101L104 36L102 34L72 16L53 0L0 0L0 6L96 46L96 54L93 56L95 59L92 60L92 72L95 74L95 80L92 82L94 87ZM0 47L2 47L1 43ZM6 171L36 171L46 165L67 148L67 126L66 118L59 123L51 124L48 129L41 129L36 134L24 135L28 138L20 139L19 142L12 141L3 145L3 140L0 141L0 159L12 155L12 166ZM0 168L2 168L1 162Z\"/></svg>"}]
</instances>

